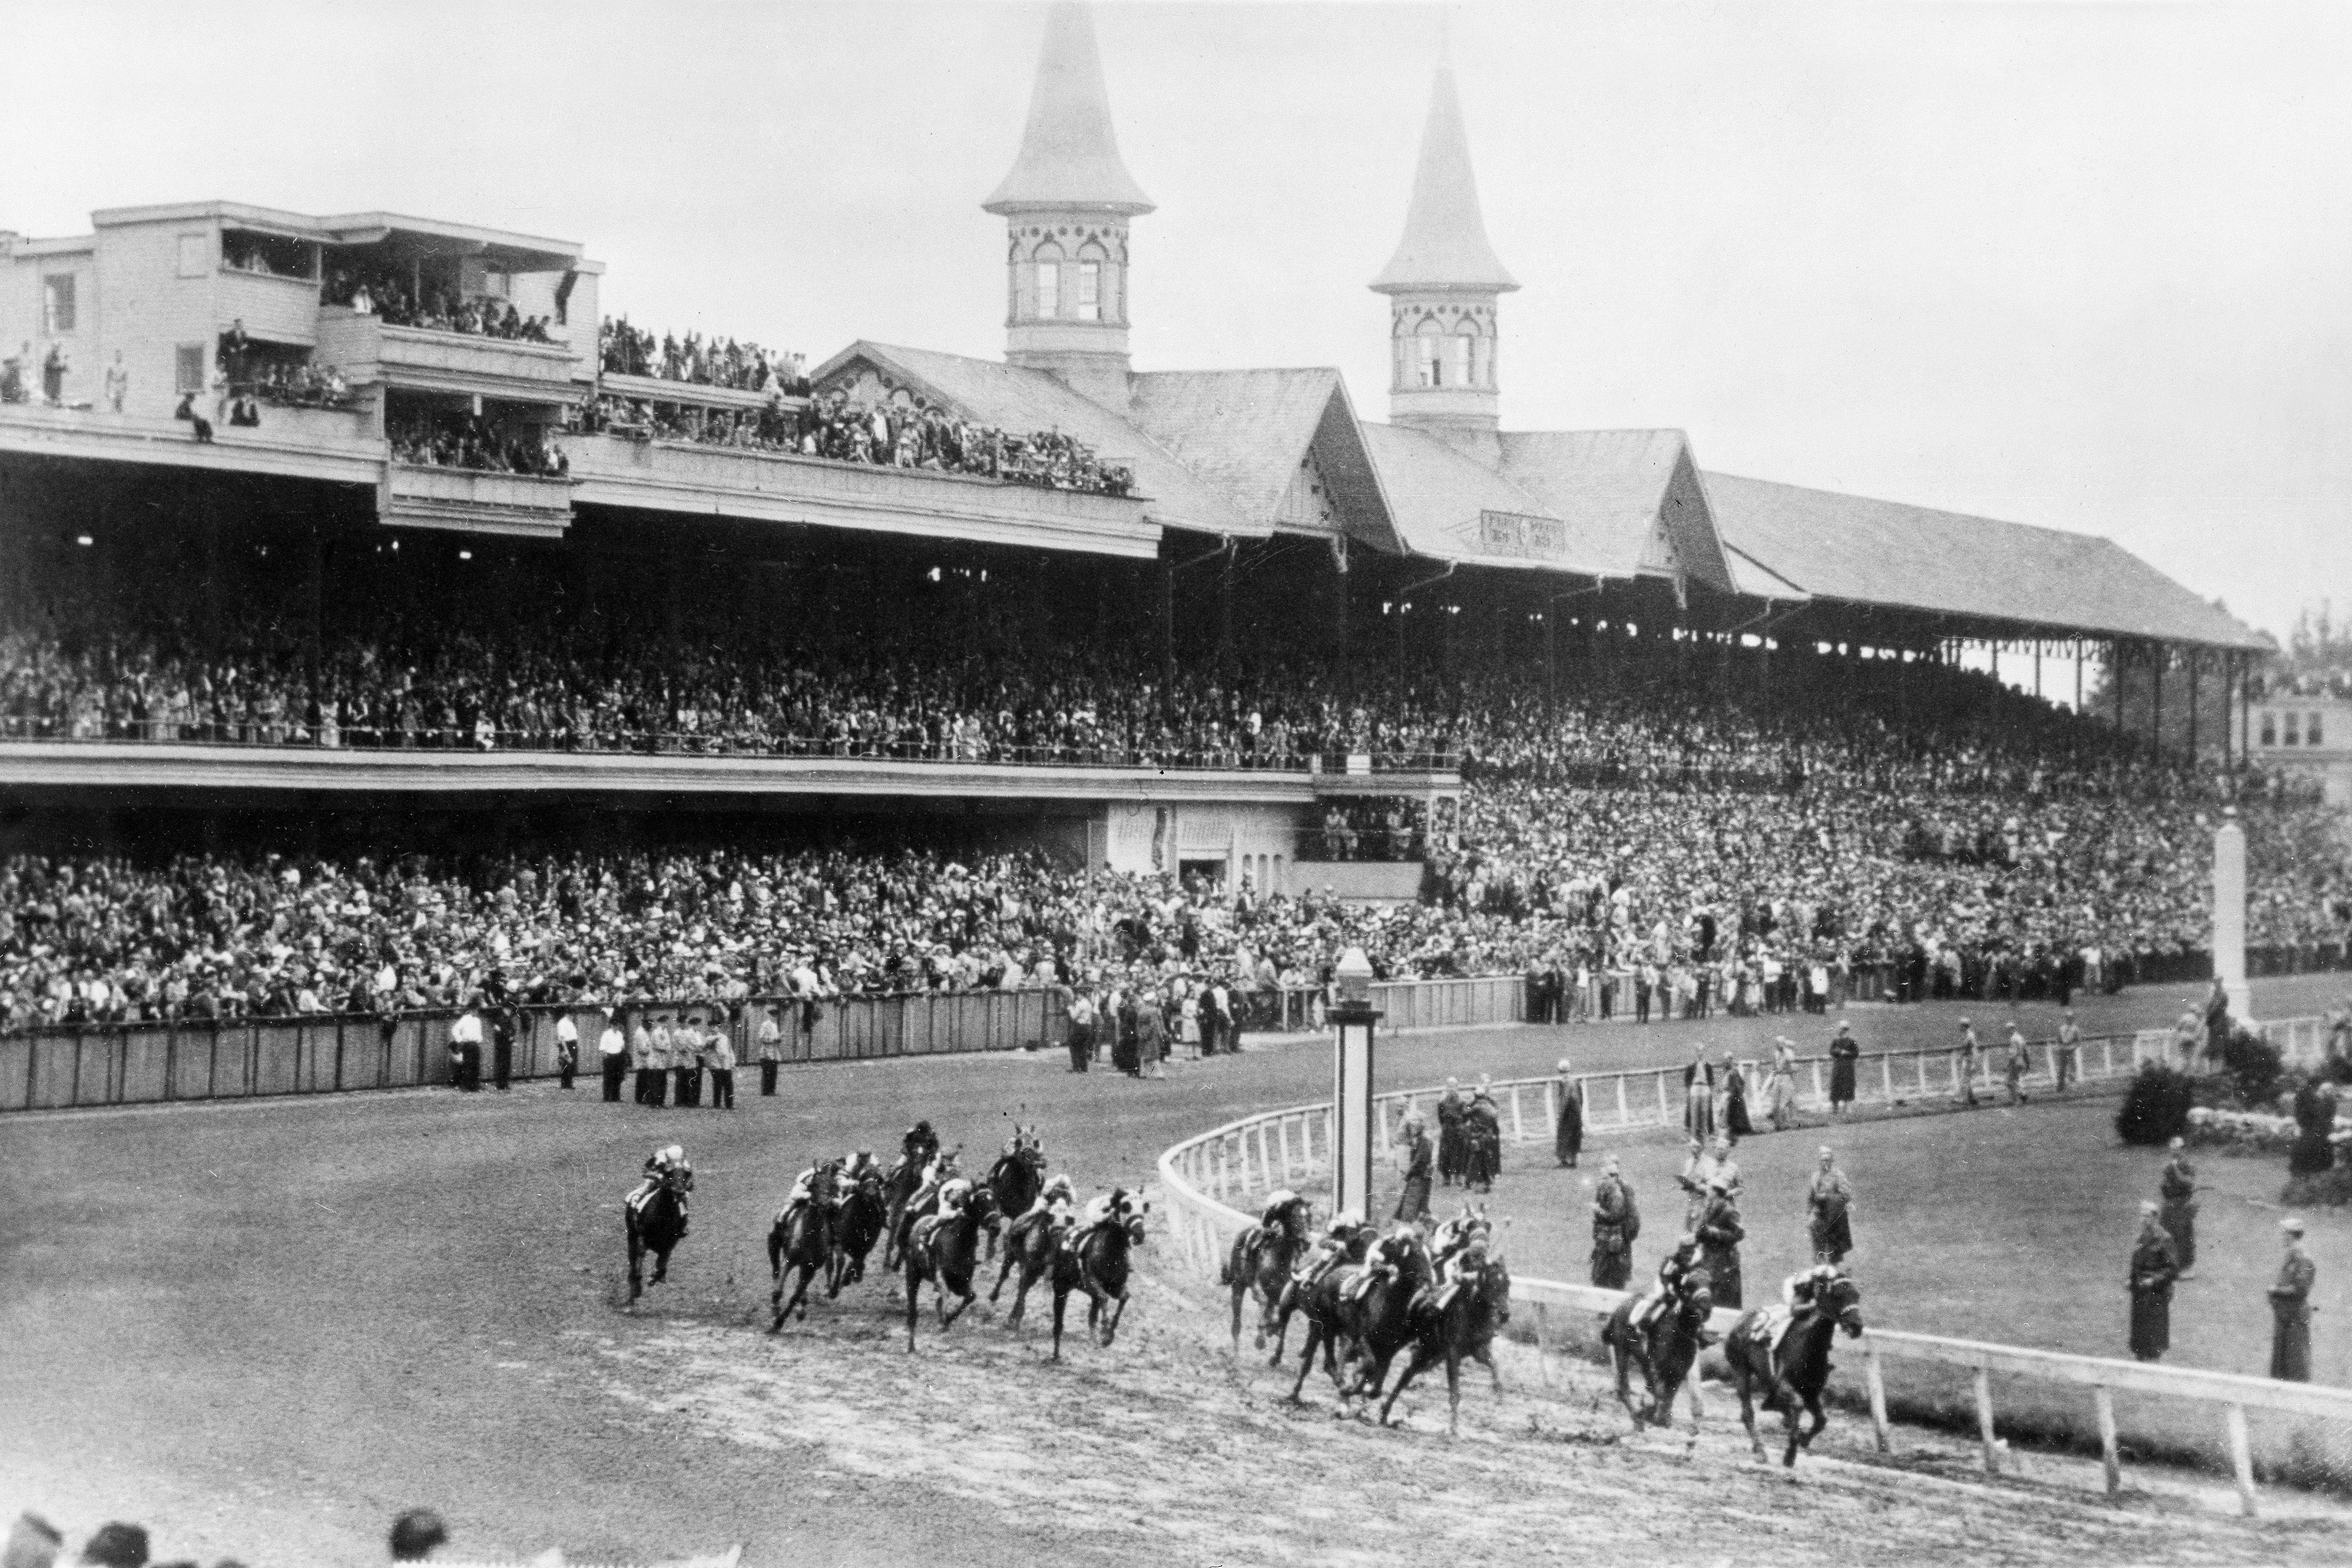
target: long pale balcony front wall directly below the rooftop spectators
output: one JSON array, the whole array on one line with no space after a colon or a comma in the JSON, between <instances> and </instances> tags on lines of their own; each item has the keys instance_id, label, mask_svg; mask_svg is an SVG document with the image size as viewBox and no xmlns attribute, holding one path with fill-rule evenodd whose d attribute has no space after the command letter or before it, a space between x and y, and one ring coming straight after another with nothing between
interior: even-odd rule
<instances>
[{"instance_id":1,"label":"long pale balcony front wall directly below the rooftop spectators","mask_svg":"<svg viewBox=\"0 0 2352 1568\"><path fill-rule=\"evenodd\" d=\"M607 378L609 386L609 378ZM1141 496L1091 496L927 468L875 468L750 447L567 435L581 505L804 522L1030 550L1150 557L1160 524Z\"/></svg>"}]
</instances>

